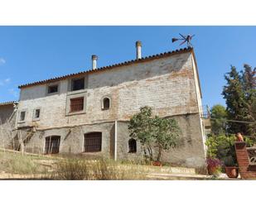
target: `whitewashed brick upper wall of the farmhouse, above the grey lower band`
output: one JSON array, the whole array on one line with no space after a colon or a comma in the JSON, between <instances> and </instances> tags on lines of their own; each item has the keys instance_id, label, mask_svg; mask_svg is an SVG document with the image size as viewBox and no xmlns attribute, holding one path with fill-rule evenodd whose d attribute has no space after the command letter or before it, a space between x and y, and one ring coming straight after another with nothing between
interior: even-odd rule
<instances>
[{"instance_id":1,"label":"whitewashed brick upper wall of the farmhouse, above the grey lower band","mask_svg":"<svg viewBox=\"0 0 256 206\"><path fill-rule=\"evenodd\" d=\"M70 79L60 81L55 95L46 95L47 85L22 89L19 110L27 111L27 119L19 125L50 128L128 120L145 105L162 117L198 113L190 52L95 72L86 79L87 89L75 92L68 92ZM72 95L86 98L85 113L66 115L67 98ZM109 110L101 109L105 95L111 98ZM33 122L35 108L41 108L41 117Z\"/></svg>"}]
</instances>

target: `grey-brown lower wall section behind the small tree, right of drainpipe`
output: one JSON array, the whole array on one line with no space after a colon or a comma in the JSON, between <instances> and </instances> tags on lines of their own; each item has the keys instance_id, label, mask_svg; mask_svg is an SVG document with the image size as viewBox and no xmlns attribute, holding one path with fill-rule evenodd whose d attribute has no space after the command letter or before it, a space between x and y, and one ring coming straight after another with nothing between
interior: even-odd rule
<instances>
[{"instance_id":1,"label":"grey-brown lower wall section behind the small tree, right of drainpipe","mask_svg":"<svg viewBox=\"0 0 256 206\"><path fill-rule=\"evenodd\" d=\"M162 161L191 167L205 165L204 142L201 138L200 116L196 114L178 115L176 119L181 127L181 146L162 153ZM128 122L118 122L118 159L137 159L143 157L142 148L138 142L138 152L128 153ZM157 154L155 152L155 154Z\"/></svg>"}]
</instances>

